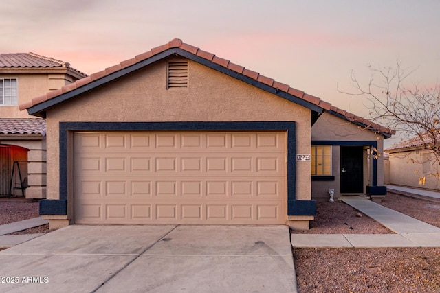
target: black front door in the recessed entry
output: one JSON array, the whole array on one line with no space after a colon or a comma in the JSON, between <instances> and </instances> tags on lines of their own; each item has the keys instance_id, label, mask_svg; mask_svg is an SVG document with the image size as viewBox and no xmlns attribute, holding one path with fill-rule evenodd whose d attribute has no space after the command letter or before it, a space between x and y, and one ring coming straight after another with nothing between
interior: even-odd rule
<instances>
[{"instance_id":1,"label":"black front door in the recessed entry","mask_svg":"<svg viewBox=\"0 0 440 293\"><path fill-rule=\"evenodd\" d=\"M341 192L364 192L364 147L341 147Z\"/></svg>"}]
</instances>

